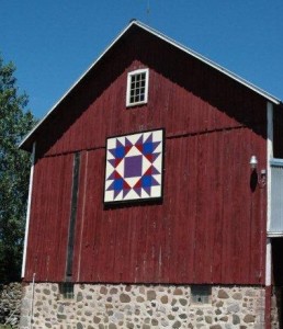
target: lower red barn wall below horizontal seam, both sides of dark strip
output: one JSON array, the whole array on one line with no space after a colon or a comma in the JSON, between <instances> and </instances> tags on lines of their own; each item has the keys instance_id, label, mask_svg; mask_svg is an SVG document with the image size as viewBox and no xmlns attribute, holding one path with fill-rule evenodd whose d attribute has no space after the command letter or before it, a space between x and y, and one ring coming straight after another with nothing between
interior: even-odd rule
<instances>
[{"instance_id":1,"label":"lower red barn wall below horizontal seam, both sides of dark strip","mask_svg":"<svg viewBox=\"0 0 283 329\"><path fill-rule=\"evenodd\" d=\"M102 200L105 150L82 151L72 280L262 283L264 190L251 191L248 166L259 141L248 128L167 138L162 203L114 208ZM71 163L36 164L26 280L65 279Z\"/></svg>"}]
</instances>

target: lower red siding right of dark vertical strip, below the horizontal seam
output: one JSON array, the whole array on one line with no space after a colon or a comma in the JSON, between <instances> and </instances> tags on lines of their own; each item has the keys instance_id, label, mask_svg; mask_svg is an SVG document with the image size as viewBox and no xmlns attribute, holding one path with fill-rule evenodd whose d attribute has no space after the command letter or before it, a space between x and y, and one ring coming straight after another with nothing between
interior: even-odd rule
<instances>
[{"instance_id":1,"label":"lower red siding right of dark vertical strip, below the horizontal seam","mask_svg":"<svg viewBox=\"0 0 283 329\"><path fill-rule=\"evenodd\" d=\"M256 143L246 129L167 139L165 195L156 205L104 209L104 150L86 152L75 281L261 282L257 197L264 192L250 191L245 134Z\"/></svg>"}]
</instances>

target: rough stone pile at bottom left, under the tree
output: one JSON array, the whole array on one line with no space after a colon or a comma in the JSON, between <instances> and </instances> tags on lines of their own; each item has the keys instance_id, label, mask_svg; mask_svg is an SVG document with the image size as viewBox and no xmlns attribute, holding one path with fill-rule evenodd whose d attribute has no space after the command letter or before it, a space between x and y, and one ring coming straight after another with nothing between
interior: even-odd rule
<instances>
[{"instance_id":1,"label":"rough stone pile at bottom left, under the tree","mask_svg":"<svg viewBox=\"0 0 283 329\"><path fill-rule=\"evenodd\" d=\"M0 284L0 325L7 324L19 328L21 298L21 283Z\"/></svg>"}]
</instances>

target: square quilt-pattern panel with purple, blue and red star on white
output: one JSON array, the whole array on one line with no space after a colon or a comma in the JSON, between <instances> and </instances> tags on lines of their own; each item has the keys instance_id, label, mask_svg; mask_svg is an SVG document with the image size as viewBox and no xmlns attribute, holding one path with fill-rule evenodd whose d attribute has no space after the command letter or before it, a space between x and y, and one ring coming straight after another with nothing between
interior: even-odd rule
<instances>
[{"instance_id":1,"label":"square quilt-pattern panel with purple, blue and red star on white","mask_svg":"<svg viewBox=\"0 0 283 329\"><path fill-rule=\"evenodd\" d=\"M162 196L163 129L106 139L104 203Z\"/></svg>"}]
</instances>

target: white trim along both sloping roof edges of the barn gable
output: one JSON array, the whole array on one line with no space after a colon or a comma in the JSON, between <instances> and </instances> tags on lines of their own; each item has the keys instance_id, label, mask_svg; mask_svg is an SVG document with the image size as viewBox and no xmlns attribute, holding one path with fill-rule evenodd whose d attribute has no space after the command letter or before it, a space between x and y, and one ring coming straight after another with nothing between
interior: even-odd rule
<instances>
[{"instance_id":1,"label":"white trim along both sloping roof edges of the barn gable","mask_svg":"<svg viewBox=\"0 0 283 329\"><path fill-rule=\"evenodd\" d=\"M72 89L83 79L83 77L100 61L100 59L109 52L109 49L122 37L123 34L125 34L127 32L127 30L129 30L129 27L132 25L137 25L146 31L148 31L149 33L156 35L157 37L163 39L165 42L173 45L174 47L181 49L182 52L185 52L186 54L195 57L196 59L205 63L206 65L215 68L216 70L223 72L224 75L228 76L229 78L238 81L239 83L246 86L247 88L253 90L254 92L257 92L258 94L262 95L263 98L265 98L267 100L269 100L270 102L279 105L281 103L281 101L279 99L276 99L275 97L271 95L270 93L265 92L264 90L258 88L257 86L248 82L247 80L240 78L239 76L233 73L231 71L225 69L224 67L217 65L216 63L207 59L206 57L197 54L196 52L184 47L183 45L179 44L178 42L171 39L170 37L166 36L165 34L154 30L152 27L149 27L148 25L133 20L118 35L117 37L109 45L109 47L100 55L100 57L90 66L89 69L87 69L87 71L84 73L82 73L82 76L78 79L78 81L76 81L68 90L67 92L57 101L57 103L47 112L47 114L34 126L34 128L24 137L24 139L21 141L21 144L19 145L19 147L22 147L23 144L34 134L35 131L37 131L37 128L43 124L43 122L53 113L53 111L59 105L59 103L72 91Z\"/></svg>"}]
</instances>

